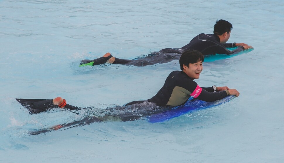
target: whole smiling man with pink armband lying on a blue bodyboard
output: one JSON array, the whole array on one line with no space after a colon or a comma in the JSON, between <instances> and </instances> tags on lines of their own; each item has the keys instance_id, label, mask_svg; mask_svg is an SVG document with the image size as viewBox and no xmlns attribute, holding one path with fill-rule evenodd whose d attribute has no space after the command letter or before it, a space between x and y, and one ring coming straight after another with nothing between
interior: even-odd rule
<instances>
[{"instance_id":1,"label":"whole smiling man with pink armband lying on a blue bodyboard","mask_svg":"<svg viewBox=\"0 0 284 163\"><path fill-rule=\"evenodd\" d=\"M124 106L107 108L107 113L103 117L95 120L104 120L104 117L117 117L121 120L134 120L149 114L165 111L166 109L180 106L186 103L190 96L202 101L216 101L228 95L239 96L236 89L229 89L227 86L221 87L200 87L194 79L199 79L202 72L204 57L197 50L185 51L179 60L182 71L173 71L167 77L164 86L151 99L142 101L132 101ZM34 113L46 111L49 108L60 107L70 110L79 109L76 106L66 104L66 100L57 97L46 102L32 103L30 108Z\"/></svg>"}]
</instances>

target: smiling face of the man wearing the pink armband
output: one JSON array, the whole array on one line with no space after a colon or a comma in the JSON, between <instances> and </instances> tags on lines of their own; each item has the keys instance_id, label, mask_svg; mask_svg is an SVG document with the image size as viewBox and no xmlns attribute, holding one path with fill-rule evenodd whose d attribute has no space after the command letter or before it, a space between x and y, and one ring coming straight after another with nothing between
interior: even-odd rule
<instances>
[{"instance_id":1,"label":"smiling face of the man wearing the pink armband","mask_svg":"<svg viewBox=\"0 0 284 163\"><path fill-rule=\"evenodd\" d=\"M196 63L190 63L188 67L183 65L183 72L187 74L191 79L199 79L199 75L203 69L202 61Z\"/></svg>"}]
</instances>

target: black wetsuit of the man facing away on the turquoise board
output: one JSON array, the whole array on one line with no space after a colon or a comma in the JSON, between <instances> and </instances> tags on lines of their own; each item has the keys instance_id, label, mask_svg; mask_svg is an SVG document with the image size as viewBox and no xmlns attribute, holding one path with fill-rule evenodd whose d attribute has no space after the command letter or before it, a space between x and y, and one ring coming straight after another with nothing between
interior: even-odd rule
<instances>
[{"instance_id":1,"label":"black wetsuit of the man facing away on the turquoise board","mask_svg":"<svg viewBox=\"0 0 284 163\"><path fill-rule=\"evenodd\" d=\"M244 47L239 46L237 49L230 51L226 47L236 47L235 43L220 43L220 38L216 34L201 33L194 37L187 45L182 48L166 48L159 52L135 58L133 60L124 60L115 58L113 64L124 64L134 66L148 66L158 63L167 63L172 60L179 60L180 55L189 49L198 50L203 55L211 54L233 54L244 50ZM110 56L112 57L112 55ZM95 60L82 60L81 64L93 62L92 65L105 64L110 57L100 57Z\"/></svg>"}]
</instances>

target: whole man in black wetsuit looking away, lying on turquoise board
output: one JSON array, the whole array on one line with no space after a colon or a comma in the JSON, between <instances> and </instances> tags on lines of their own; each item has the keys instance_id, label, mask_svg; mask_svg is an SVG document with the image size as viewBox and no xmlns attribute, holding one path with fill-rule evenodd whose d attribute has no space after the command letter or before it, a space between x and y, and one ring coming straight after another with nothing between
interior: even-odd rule
<instances>
[{"instance_id":1,"label":"whole man in black wetsuit looking away, lying on turquoise board","mask_svg":"<svg viewBox=\"0 0 284 163\"><path fill-rule=\"evenodd\" d=\"M231 23L225 20L216 21L214 25L214 34L201 33L194 37L187 45L181 48L166 48L159 52L153 52L152 54L136 58L134 60L124 60L113 57L110 53L106 53L103 57L95 60L82 60L80 66L84 65L98 65L98 64L124 64L134 66L147 66L157 63L167 63L172 60L178 60L180 55L189 49L198 50L203 55L213 54L234 54L243 50L251 49L245 43L226 43L230 38L231 29L233 26ZM227 50L226 47L237 47L235 50Z\"/></svg>"}]
</instances>

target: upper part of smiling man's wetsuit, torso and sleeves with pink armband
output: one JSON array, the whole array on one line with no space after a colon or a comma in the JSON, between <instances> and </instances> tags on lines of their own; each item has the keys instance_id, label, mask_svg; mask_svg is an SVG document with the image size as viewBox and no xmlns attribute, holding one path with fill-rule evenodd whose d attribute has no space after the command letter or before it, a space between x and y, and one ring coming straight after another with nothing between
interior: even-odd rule
<instances>
[{"instance_id":1,"label":"upper part of smiling man's wetsuit, torso and sleeves with pink armband","mask_svg":"<svg viewBox=\"0 0 284 163\"><path fill-rule=\"evenodd\" d=\"M157 106L179 106L183 105L190 96L210 102L223 99L228 94L228 91L214 92L213 87L199 87L183 71L173 71L160 91L148 101Z\"/></svg>"}]
</instances>

